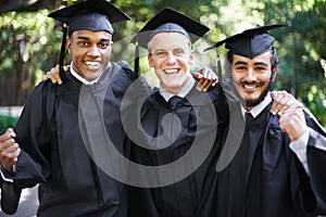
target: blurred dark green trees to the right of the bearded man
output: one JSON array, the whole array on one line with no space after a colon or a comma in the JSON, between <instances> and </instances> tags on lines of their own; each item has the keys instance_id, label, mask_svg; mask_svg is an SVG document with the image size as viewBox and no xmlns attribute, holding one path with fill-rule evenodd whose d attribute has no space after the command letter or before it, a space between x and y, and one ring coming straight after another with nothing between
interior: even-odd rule
<instances>
[{"instance_id":1,"label":"blurred dark green trees to the right of the bearded man","mask_svg":"<svg viewBox=\"0 0 326 217\"><path fill-rule=\"evenodd\" d=\"M268 3L266 23L285 17L289 28L277 31L281 68L278 89L287 89L326 126L326 1L301 0ZM271 9L275 10L271 10ZM283 10L279 10L283 9ZM277 14L280 11L280 14Z\"/></svg>"}]
</instances>

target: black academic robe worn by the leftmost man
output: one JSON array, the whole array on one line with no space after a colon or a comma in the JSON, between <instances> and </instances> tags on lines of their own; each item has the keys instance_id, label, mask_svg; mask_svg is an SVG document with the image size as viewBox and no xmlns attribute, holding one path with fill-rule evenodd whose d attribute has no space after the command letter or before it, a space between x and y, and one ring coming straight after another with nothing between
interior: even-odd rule
<instances>
[{"instance_id":1,"label":"black academic robe worn by the leftmost man","mask_svg":"<svg viewBox=\"0 0 326 217\"><path fill-rule=\"evenodd\" d=\"M23 189L39 183L38 216L127 215L124 184L99 168L85 145L85 126L101 129L102 125L83 117L83 103L103 101L105 127L116 149L125 154L118 107L134 79L127 64L112 62L95 85L83 86L66 73L62 86L47 80L35 88L14 129L22 149L14 184ZM86 91L80 95L83 87ZM82 97L89 102L79 104Z\"/></svg>"}]
</instances>

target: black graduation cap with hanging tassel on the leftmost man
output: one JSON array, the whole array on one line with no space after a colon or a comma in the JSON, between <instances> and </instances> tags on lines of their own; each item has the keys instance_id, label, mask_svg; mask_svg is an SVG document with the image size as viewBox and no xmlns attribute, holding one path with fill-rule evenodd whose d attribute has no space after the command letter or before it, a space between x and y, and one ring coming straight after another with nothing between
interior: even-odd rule
<instances>
[{"instance_id":1,"label":"black graduation cap with hanging tassel on the leftmost man","mask_svg":"<svg viewBox=\"0 0 326 217\"><path fill-rule=\"evenodd\" d=\"M68 26L68 35L75 30L104 30L113 34L112 23L130 20L130 17L106 0L86 0L73 5L60 9L48 15L63 24L63 39L60 52L60 71L63 72L65 52L65 39Z\"/></svg>"}]
</instances>

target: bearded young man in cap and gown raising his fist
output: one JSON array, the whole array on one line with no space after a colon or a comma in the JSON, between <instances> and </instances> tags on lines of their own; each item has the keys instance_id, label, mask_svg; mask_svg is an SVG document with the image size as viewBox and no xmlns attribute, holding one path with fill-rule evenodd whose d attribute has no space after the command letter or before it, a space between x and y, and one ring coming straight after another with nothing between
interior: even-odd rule
<instances>
[{"instance_id":1,"label":"bearded young man in cap and gown raising his fist","mask_svg":"<svg viewBox=\"0 0 326 217\"><path fill-rule=\"evenodd\" d=\"M217 216L299 217L326 212L322 184L326 173L318 168L326 161L325 130L301 106L269 113L279 61L275 38L267 30L281 26L248 29L214 44L229 49L230 86L246 118L239 149L217 175Z\"/></svg>"}]
</instances>

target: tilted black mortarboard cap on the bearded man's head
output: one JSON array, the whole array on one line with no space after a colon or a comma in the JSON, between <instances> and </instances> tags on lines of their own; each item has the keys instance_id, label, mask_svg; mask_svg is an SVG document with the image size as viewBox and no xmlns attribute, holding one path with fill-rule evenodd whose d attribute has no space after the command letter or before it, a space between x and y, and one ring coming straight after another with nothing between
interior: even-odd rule
<instances>
[{"instance_id":1,"label":"tilted black mortarboard cap on the bearded man's head","mask_svg":"<svg viewBox=\"0 0 326 217\"><path fill-rule=\"evenodd\" d=\"M250 28L241 34L236 34L222 41L218 41L214 46L206 48L204 51L218 48L225 43L225 48L229 49L233 54L253 59L268 51L275 41L275 38L269 35L267 30L284 26L286 26L286 24L273 24Z\"/></svg>"}]
</instances>

